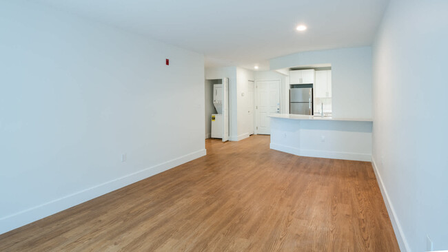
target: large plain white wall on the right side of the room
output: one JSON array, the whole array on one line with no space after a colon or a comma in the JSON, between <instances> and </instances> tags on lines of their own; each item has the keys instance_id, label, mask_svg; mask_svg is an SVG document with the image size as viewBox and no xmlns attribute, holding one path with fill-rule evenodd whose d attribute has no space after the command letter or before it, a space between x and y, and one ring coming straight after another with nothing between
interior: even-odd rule
<instances>
[{"instance_id":1,"label":"large plain white wall on the right side of the room","mask_svg":"<svg viewBox=\"0 0 448 252\"><path fill-rule=\"evenodd\" d=\"M374 44L374 164L403 251L448 249L447 28L448 1L392 0Z\"/></svg>"}]
</instances>

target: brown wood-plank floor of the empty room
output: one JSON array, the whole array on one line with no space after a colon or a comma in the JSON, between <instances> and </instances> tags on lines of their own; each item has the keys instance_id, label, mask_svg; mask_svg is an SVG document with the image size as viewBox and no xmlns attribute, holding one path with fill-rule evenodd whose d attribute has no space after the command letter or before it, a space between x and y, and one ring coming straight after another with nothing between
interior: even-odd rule
<instances>
[{"instance_id":1,"label":"brown wood-plank floor of the empty room","mask_svg":"<svg viewBox=\"0 0 448 252\"><path fill-rule=\"evenodd\" d=\"M206 141L207 156L0 235L0 251L399 251L369 162Z\"/></svg>"}]
</instances>

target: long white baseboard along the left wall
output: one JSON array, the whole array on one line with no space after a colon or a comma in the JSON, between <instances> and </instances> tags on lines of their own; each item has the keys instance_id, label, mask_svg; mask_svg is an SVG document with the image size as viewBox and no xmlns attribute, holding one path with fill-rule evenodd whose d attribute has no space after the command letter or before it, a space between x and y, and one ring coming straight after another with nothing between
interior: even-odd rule
<instances>
[{"instance_id":1,"label":"long white baseboard along the left wall","mask_svg":"<svg viewBox=\"0 0 448 252\"><path fill-rule=\"evenodd\" d=\"M51 216L54 213L63 211L70 207L74 207L77 204L92 200L93 198L102 196L105 193L110 193L111 191L120 189L121 187L125 187L139 180L154 176L161 173L162 171L166 171L178 165L182 165L185 162L200 158L201 156L205 156L206 154L207 151L205 149L194 151L190 154L180 156L179 158L174 158L172 160L168 160L167 162L162 162L159 165L154 165L152 167L136 171L132 174L122 176L121 178L116 178L114 180L104 182L100 185L96 185L82 191L77 191L76 193L72 193L62 198L58 198L50 202L45 202L30 209L19 211L18 213L14 213L10 216L5 216L3 218L0 218L0 234L11 231L12 229L17 229L18 227L29 224L36 220L40 220L41 218Z\"/></svg>"}]
</instances>

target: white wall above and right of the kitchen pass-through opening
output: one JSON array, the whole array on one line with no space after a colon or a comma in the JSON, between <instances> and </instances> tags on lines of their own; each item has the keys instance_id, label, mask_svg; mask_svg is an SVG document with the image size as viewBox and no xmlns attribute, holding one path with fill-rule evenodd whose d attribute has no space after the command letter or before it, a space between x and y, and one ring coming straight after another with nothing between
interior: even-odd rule
<instances>
[{"instance_id":1,"label":"white wall above and right of the kitchen pass-through opening","mask_svg":"<svg viewBox=\"0 0 448 252\"><path fill-rule=\"evenodd\" d=\"M371 48L299 52L269 61L272 70L332 65L332 107L335 118L371 118Z\"/></svg>"}]
</instances>

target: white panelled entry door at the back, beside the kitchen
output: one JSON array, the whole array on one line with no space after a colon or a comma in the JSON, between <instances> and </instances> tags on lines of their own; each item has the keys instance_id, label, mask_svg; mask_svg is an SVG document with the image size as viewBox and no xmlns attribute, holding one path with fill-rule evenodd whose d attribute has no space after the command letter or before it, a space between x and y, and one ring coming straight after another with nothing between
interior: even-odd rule
<instances>
[{"instance_id":1,"label":"white panelled entry door at the back, beside the kitchen","mask_svg":"<svg viewBox=\"0 0 448 252\"><path fill-rule=\"evenodd\" d=\"M256 82L256 134L271 134L269 114L280 113L280 80Z\"/></svg>"}]
</instances>

